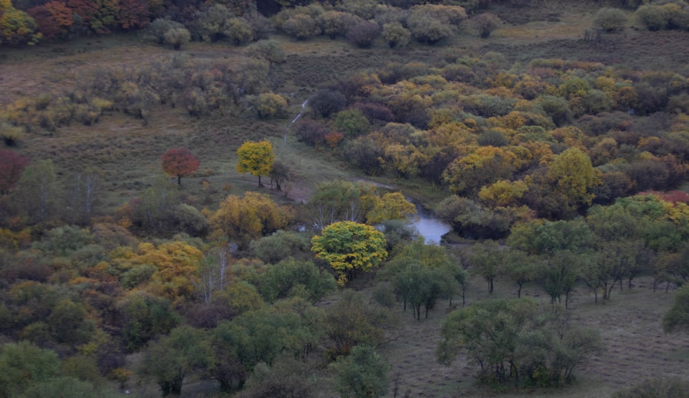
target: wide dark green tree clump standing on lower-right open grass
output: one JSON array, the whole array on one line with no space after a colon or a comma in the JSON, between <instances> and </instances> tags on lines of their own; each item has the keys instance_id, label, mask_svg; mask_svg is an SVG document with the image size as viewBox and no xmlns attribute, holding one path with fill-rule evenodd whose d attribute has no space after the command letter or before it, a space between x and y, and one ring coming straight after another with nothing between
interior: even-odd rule
<instances>
[{"instance_id":1,"label":"wide dark green tree clump standing on lower-right open grass","mask_svg":"<svg viewBox=\"0 0 689 398\"><path fill-rule=\"evenodd\" d=\"M601 351L597 332L563 326L562 317L539 313L526 299L477 302L447 317L436 355L450 364L466 353L486 384L562 386L577 365Z\"/></svg>"}]
</instances>

